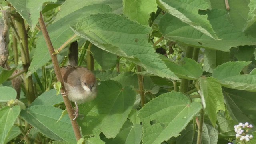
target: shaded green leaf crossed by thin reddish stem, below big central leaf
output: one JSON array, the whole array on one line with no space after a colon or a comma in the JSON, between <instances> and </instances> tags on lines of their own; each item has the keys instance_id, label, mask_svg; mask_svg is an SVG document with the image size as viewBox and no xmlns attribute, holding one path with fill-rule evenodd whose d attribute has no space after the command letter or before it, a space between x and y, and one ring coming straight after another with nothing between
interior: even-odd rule
<instances>
[{"instance_id":1,"label":"shaded green leaf crossed by thin reddish stem, below big central leaf","mask_svg":"<svg viewBox=\"0 0 256 144\"><path fill-rule=\"evenodd\" d=\"M138 76L134 72L123 72L118 76L111 78L111 80L120 82L123 87L132 85L136 90L139 89ZM154 84L149 76L143 77L143 86L145 90L151 90L154 87Z\"/></svg>"}]
</instances>

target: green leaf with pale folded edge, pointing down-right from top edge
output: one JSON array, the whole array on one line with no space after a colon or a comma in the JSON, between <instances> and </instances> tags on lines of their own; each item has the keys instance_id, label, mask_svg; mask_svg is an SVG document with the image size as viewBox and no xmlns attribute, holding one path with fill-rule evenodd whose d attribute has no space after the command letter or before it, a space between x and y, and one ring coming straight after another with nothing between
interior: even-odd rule
<instances>
[{"instance_id":1,"label":"green leaf with pale folded edge, pointing down-right from top edge","mask_svg":"<svg viewBox=\"0 0 256 144\"><path fill-rule=\"evenodd\" d=\"M218 38L207 20L208 16L198 14L198 10L207 10L210 7L204 0L157 0L156 2L160 8L206 36Z\"/></svg>"}]
</instances>

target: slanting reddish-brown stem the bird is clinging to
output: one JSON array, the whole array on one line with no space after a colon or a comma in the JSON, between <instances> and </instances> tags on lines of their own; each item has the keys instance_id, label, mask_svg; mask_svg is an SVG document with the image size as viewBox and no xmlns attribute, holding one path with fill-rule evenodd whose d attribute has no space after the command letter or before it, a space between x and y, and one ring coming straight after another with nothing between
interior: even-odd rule
<instances>
[{"instance_id":1,"label":"slanting reddish-brown stem the bird is clinging to","mask_svg":"<svg viewBox=\"0 0 256 144\"><path fill-rule=\"evenodd\" d=\"M61 82L61 84L62 84L61 92L64 93L66 90L65 90L64 83L63 83L63 78L62 78L62 76L60 74L60 67L59 67L59 64L58 64L57 56L53 55L54 48L52 46L52 42L50 40L50 36L48 34L46 25L44 23L42 12L40 12L39 25L41 27L42 34L44 36L46 45L48 47L48 50L50 52L50 56L52 58L52 64L53 64L53 67L54 67L54 71L55 71L57 80L59 82ZM66 109L68 111L68 115L69 115L70 120L71 120L71 124L72 124L73 130L74 130L75 136L76 136L76 140L78 141L80 138L82 138L82 136L80 134L79 126L78 126L76 120L72 120L74 118L74 115L73 115L73 109L72 109L71 103L68 100L68 96L62 96L62 97L63 97L63 100L64 100L64 104L66 106Z\"/></svg>"}]
</instances>

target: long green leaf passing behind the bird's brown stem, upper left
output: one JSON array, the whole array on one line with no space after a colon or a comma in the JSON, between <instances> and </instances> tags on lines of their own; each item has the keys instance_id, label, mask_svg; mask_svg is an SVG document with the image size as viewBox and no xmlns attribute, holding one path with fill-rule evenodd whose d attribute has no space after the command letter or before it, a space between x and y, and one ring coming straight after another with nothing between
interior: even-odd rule
<instances>
[{"instance_id":1,"label":"long green leaf passing behind the bird's brown stem, upper left","mask_svg":"<svg viewBox=\"0 0 256 144\"><path fill-rule=\"evenodd\" d=\"M78 20L81 20L86 16L100 12L111 12L111 9L107 5L99 4L86 6L68 14L64 18L48 26L47 29L54 48L59 48L64 42L74 35L74 32L70 29L70 25L76 24ZM44 66L51 59L45 40L42 37L42 33L40 33L38 37L37 47L26 77L36 72L38 68Z\"/></svg>"}]
</instances>

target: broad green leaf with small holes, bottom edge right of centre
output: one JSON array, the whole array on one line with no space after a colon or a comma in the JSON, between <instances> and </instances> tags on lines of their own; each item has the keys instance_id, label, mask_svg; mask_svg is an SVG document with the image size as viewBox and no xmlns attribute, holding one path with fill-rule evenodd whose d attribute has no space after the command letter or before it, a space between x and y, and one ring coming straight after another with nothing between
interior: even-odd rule
<instances>
[{"instance_id":1,"label":"broad green leaf with small holes, bottom edge right of centre","mask_svg":"<svg viewBox=\"0 0 256 144\"><path fill-rule=\"evenodd\" d=\"M139 111L143 144L160 144L179 136L201 109L199 102L190 103L189 98L179 92L172 91L154 98Z\"/></svg>"}]
</instances>

